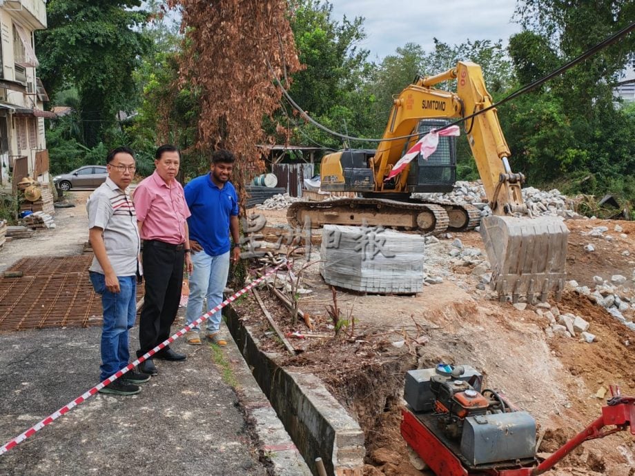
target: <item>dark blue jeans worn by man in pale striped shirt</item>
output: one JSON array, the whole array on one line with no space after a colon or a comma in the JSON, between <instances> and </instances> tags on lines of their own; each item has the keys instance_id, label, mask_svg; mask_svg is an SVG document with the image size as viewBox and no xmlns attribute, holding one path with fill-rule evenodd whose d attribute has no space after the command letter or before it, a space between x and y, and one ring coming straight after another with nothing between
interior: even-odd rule
<instances>
[{"instance_id":1,"label":"dark blue jeans worn by man in pale striped shirt","mask_svg":"<svg viewBox=\"0 0 635 476\"><path fill-rule=\"evenodd\" d=\"M104 326L101 329L100 381L107 379L128 365L128 329L135 325L137 315L137 278L117 276L120 292L106 289L106 277L99 272L90 272L90 282L95 292L101 295L104 308Z\"/></svg>"}]
</instances>

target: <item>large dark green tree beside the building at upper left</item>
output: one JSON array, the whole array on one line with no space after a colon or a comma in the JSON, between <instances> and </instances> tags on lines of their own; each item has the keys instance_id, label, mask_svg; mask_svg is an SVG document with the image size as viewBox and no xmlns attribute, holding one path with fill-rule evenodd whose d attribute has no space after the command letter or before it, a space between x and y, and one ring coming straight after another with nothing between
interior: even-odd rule
<instances>
[{"instance_id":1,"label":"large dark green tree beside the building at upper left","mask_svg":"<svg viewBox=\"0 0 635 476\"><path fill-rule=\"evenodd\" d=\"M139 0L49 0L48 29L36 32L39 74L55 94L75 86L82 141L97 145L119 110L137 106L133 70L149 46Z\"/></svg>"}]
</instances>

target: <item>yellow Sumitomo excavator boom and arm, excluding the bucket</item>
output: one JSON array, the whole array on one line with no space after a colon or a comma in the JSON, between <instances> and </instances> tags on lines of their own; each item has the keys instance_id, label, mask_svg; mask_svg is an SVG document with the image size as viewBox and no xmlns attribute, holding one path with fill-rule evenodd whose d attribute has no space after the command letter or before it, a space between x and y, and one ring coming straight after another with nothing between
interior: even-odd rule
<instances>
[{"instance_id":1,"label":"yellow Sumitomo excavator boom and arm, excluding the bucket","mask_svg":"<svg viewBox=\"0 0 635 476\"><path fill-rule=\"evenodd\" d=\"M457 92L433 88L436 84L456 79ZM418 79L407 86L394 100L389 121L375 153L375 186L383 190L384 177L402 157L404 146L413 145L418 137L410 137L421 119L466 117L489 108L492 99L485 88L480 66L460 61L456 68L433 77ZM520 184L522 174L514 174L507 158L511 155L502 135L496 109L492 108L464 124L478 173L494 215L527 214ZM395 139L400 138L401 139ZM395 183L395 192L402 192L407 184L407 170ZM502 176L502 179L501 179Z\"/></svg>"}]
</instances>

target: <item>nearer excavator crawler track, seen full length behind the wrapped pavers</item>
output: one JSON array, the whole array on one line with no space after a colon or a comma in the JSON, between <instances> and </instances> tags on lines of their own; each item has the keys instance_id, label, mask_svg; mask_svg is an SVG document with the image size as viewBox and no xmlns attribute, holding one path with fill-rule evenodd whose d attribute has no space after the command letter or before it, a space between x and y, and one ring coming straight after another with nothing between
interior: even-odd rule
<instances>
[{"instance_id":1,"label":"nearer excavator crawler track, seen full length behind the wrapped pavers","mask_svg":"<svg viewBox=\"0 0 635 476\"><path fill-rule=\"evenodd\" d=\"M373 198L297 201L286 213L291 226L304 226L307 218L311 228L321 228L325 224L360 226L365 223L367 226L413 230L427 235L439 235L450 224L444 206Z\"/></svg>"}]
</instances>

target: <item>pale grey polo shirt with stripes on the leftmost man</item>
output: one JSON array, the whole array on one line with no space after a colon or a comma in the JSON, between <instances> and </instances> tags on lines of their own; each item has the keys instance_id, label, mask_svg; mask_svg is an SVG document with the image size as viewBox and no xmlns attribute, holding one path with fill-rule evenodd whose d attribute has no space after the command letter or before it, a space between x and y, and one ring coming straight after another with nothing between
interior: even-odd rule
<instances>
[{"instance_id":1,"label":"pale grey polo shirt with stripes on the leftmost man","mask_svg":"<svg viewBox=\"0 0 635 476\"><path fill-rule=\"evenodd\" d=\"M106 254L117 276L134 276L141 239L135 206L128 188L121 190L109 177L88 197L86 211L88 228L104 230L102 236ZM104 274L96 257L92 258L88 269Z\"/></svg>"}]
</instances>

